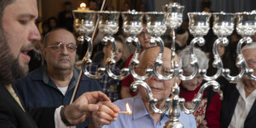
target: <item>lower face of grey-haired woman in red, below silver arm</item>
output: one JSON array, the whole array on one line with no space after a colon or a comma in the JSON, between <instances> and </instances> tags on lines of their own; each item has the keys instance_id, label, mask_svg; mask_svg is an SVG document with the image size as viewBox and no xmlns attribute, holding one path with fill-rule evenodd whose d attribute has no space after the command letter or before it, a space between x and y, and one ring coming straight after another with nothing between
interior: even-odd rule
<instances>
[{"instance_id":1,"label":"lower face of grey-haired woman in red, below silver arm","mask_svg":"<svg viewBox=\"0 0 256 128\"><path fill-rule=\"evenodd\" d=\"M192 73L184 73L184 75L189 76ZM202 78L200 75L198 75L196 78L193 78L191 80L182 80L181 86L183 86L183 88L187 89L188 91L194 91L195 89L197 89L198 86L201 85L202 82Z\"/></svg>"}]
</instances>

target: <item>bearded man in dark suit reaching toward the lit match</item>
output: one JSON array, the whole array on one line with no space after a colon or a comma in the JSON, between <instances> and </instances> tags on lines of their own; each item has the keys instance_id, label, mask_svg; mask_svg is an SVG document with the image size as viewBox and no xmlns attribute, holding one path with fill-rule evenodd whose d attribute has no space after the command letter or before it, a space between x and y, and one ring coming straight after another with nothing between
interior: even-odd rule
<instances>
[{"instance_id":1,"label":"bearded man in dark suit reaching toward the lit match","mask_svg":"<svg viewBox=\"0 0 256 128\"><path fill-rule=\"evenodd\" d=\"M88 120L91 112L98 110L97 102L110 101L102 92L85 92L66 107L22 109L11 84L27 73L27 52L32 41L40 40L37 13L36 0L0 1L0 127L66 127ZM118 108L108 104L115 117Z\"/></svg>"}]
</instances>

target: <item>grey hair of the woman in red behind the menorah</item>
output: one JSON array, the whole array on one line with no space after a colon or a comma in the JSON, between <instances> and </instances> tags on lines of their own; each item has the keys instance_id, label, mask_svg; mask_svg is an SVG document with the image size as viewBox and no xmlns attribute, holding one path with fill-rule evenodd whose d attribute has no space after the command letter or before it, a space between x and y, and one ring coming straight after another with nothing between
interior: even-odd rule
<instances>
[{"instance_id":1,"label":"grey hair of the woman in red behind the menorah","mask_svg":"<svg viewBox=\"0 0 256 128\"><path fill-rule=\"evenodd\" d=\"M194 69L191 66L189 46L182 50L178 55L183 64L183 71L187 73L193 73ZM198 64L200 69L208 69L209 59L206 54L198 48L194 48L194 53L197 56Z\"/></svg>"}]
</instances>

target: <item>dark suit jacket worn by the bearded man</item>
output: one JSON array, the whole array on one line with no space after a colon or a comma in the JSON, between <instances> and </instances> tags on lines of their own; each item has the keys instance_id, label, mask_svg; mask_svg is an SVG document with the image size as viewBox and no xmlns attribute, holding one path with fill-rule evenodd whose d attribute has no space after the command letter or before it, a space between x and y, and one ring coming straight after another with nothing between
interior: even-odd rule
<instances>
[{"instance_id":1,"label":"dark suit jacket worn by the bearded man","mask_svg":"<svg viewBox=\"0 0 256 128\"><path fill-rule=\"evenodd\" d=\"M0 127L55 127L55 108L40 108L28 111L22 111L19 104L0 81Z\"/></svg>"}]
</instances>

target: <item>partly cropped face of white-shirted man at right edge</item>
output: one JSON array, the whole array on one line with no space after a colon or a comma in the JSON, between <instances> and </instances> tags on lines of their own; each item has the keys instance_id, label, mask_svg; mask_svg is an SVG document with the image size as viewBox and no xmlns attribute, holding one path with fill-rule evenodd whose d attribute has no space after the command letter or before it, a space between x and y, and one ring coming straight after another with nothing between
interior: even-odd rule
<instances>
[{"instance_id":1,"label":"partly cropped face of white-shirted man at right edge","mask_svg":"<svg viewBox=\"0 0 256 128\"><path fill-rule=\"evenodd\" d=\"M242 53L247 64L247 68L254 69L254 75L256 75L256 50L243 50Z\"/></svg>"}]
</instances>

